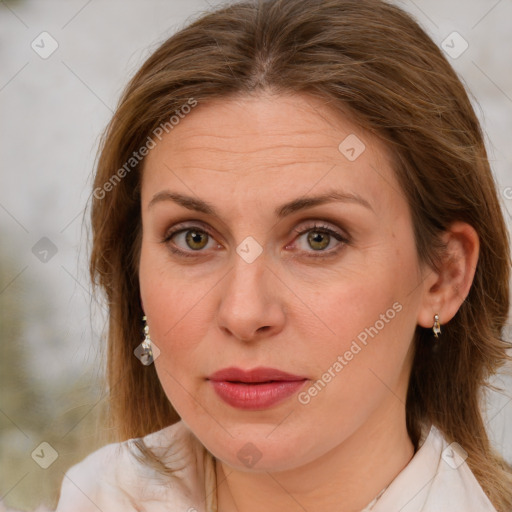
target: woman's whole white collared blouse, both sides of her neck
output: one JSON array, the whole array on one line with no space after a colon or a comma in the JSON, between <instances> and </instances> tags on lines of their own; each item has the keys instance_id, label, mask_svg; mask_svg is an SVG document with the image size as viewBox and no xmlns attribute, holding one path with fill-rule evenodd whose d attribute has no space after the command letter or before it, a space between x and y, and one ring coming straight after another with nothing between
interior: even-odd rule
<instances>
[{"instance_id":1,"label":"woman's whole white collared blouse, both sides of her neck","mask_svg":"<svg viewBox=\"0 0 512 512\"><path fill-rule=\"evenodd\" d=\"M183 421L144 438L173 475L135 457L133 441L107 445L64 476L56 512L217 512L212 455ZM435 427L402 472L362 512L496 512L464 462Z\"/></svg>"}]
</instances>

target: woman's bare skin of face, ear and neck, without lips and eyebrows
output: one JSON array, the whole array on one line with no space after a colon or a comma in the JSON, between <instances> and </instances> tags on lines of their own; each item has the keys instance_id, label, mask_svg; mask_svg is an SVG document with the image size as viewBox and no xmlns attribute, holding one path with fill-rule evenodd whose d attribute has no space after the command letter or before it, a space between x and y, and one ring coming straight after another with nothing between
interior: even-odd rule
<instances>
[{"instance_id":1,"label":"woman's bare skin of face, ear and neck, without lips and eyebrows","mask_svg":"<svg viewBox=\"0 0 512 512\"><path fill-rule=\"evenodd\" d=\"M354 161L338 149L350 134L365 144ZM329 202L274 214L327 190L357 194L368 207ZM150 205L162 191L207 201L219 216L172 200ZM361 510L414 455L405 424L414 330L432 327L435 313L446 323L460 307L478 257L474 230L454 224L446 265L421 265L387 148L307 95L197 106L146 158L141 201L139 278L161 351L156 369L218 459L219 511ZM182 223L211 237L192 247L183 232L163 242ZM347 241L324 235L318 249L308 242L315 223ZM263 248L252 263L236 252L248 236ZM400 312L307 404L296 394L243 411L206 380L228 366L269 366L312 384L396 303ZM261 454L252 467L237 457L247 443Z\"/></svg>"}]
</instances>

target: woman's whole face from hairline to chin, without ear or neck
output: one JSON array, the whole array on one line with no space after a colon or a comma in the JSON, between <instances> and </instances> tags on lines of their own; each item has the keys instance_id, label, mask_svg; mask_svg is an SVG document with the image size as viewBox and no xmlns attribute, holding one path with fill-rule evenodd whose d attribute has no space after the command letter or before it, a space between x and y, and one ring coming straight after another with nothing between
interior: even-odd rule
<instances>
[{"instance_id":1,"label":"woman's whole face from hairline to chin, without ear or neck","mask_svg":"<svg viewBox=\"0 0 512 512\"><path fill-rule=\"evenodd\" d=\"M218 100L150 151L141 194L156 369L211 453L285 470L405 424L426 270L381 143L309 96ZM294 377L214 380L233 367Z\"/></svg>"}]
</instances>

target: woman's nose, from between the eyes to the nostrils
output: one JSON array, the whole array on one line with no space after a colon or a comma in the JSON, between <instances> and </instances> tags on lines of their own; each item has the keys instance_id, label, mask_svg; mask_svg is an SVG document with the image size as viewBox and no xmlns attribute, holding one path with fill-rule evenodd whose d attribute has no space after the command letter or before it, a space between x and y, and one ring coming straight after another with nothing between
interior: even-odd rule
<instances>
[{"instance_id":1,"label":"woman's nose, from between the eyes to the nostrils","mask_svg":"<svg viewBox=\"0 0 512 512\"><path fill-rule=\"evenodd\" d=\"M275 336L283 329L285 308L275 273L267 265L265 252L248 263L238 254L223 279L217 321L227 335L249 342Z\"/></svg>"}]
</instances>

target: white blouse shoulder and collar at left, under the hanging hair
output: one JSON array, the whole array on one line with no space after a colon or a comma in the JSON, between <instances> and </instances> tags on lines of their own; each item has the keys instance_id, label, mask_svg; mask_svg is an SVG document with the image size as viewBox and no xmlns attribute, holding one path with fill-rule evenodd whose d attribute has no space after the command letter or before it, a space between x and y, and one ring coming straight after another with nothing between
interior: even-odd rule
<instances>
[{"instance_id":1,"label":"white blouse shoulder and collar at left, under the hanging hair","mask_svg":"<svg viewBox=\"0 0 512 512\"><path fill-rule=\"evenodd\" d=\"M144 460L136 441L109 444L73 466L56 512L188 510L204 499L209 454L183 421L143 438L165 472Z\"/></svg>"}]
</instances>

